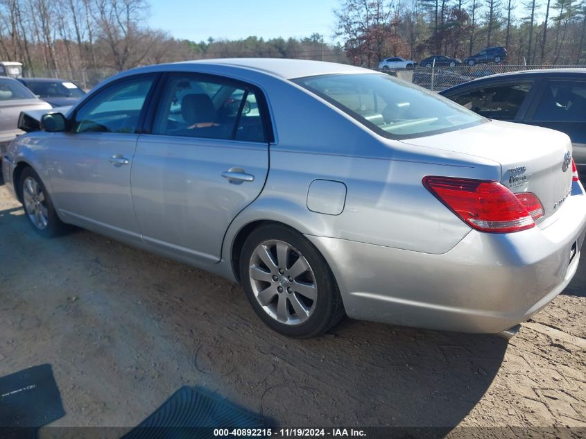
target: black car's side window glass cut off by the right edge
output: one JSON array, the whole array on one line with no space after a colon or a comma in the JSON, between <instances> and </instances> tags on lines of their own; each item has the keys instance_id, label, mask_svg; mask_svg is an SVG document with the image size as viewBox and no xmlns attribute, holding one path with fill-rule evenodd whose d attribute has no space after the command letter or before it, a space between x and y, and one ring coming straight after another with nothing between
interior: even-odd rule
<instances>
[{"instance_id":1,"label":"black car's side window glass cut off by the right edge","mask_svg":"<svg viewBox=\"0 0 586 439\"><path fill-rule=\"evenodd\" d=\"M543 122L586 122L586 83L550 81L532 119Z\"/></svg>"}]
</instances>

